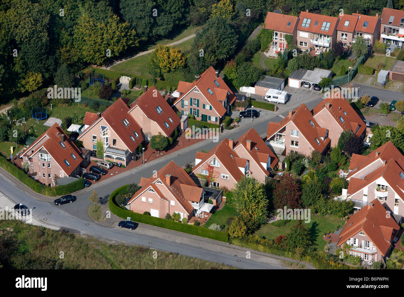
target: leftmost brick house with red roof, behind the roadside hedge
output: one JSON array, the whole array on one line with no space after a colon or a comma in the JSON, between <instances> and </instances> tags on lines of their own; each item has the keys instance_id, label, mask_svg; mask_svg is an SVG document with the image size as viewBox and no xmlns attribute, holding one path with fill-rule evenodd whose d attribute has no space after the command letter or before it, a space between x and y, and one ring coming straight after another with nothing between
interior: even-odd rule
<instances>
[{"instance_id":1,"label":"leftmost brick house with red roof, behind the roadside hedge","mask_svg":"<svg viewBox=\"0 0 404 297\"><path fill-rule=\"evenodd\" d=\"M40 183L55 186L59 177L80 176L82 153L58 124L53 124L23 154L30 176Z\"/></svg>"}]
</instances>

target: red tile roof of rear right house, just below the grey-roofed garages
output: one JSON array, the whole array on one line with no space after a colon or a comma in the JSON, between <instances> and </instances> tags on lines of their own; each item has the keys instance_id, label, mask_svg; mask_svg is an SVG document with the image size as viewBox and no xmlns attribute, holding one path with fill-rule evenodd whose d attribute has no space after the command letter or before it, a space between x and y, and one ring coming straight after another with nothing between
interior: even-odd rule
<instances>
[{"instance_id":1,"label":"red tile roof of rear right house, just below the grey-roofed garages","mask_svg":"<svg viewBox=\"0 0 404 297\"><path fill-rule=\"evenodd\" d=\"M330 108L326 107L326 103L330 103ZM335 118L339 126L343 128L343 130L352 131L355 135L362 135L366 130L366 124L360 118L360 116L356 113L353 107L349 104L349 102L341 95L339 89L337 89L333 94L330 94L326 99L321 101L316 107L313 109L313 116L316 118L316 115L326 109L327 112ZM347 113L347 115L344 114ZM343 122L339 118L343 119ZM330 122L331 124L331 122ZM359 124L359 129L357 130L357 126ZM355 126L356 128L353 128ZM331 127L330 127L331 128Z\"/></svg>"}]
</instances>

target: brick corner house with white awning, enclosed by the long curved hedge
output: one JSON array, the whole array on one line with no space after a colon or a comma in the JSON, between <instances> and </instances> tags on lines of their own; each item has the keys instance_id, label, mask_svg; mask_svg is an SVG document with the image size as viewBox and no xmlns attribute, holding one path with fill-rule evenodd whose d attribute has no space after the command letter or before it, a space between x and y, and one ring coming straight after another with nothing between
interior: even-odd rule
<instances>
[{"instance_id":1,"label":"brick corner house with white awning, enclosed by the long curved hedge","mask_svg":"<svg viewBox=\"0 0 404 297\"><path fill-rule=\"evenodd\" d=\"M164 218L167 213L179 213L188 220L198 211L209 212L213 204L205 202L205 191L196 185L185 170L169 162L150 178L141 178L141 188L130 198L126 207L136 213L149 212Z\"/></svg>"}]
</instances>

